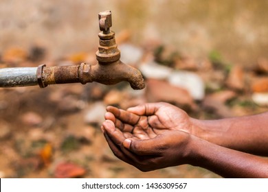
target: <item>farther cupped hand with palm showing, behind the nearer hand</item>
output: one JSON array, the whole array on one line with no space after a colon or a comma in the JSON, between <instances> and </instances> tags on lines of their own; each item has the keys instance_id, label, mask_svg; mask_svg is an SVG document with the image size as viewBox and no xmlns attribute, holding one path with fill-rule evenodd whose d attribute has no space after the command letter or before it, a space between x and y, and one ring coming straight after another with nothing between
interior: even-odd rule
<instances>
[{"instance_id":1,"label":"farther cupped hand with palm showing, behind the nearer hand","mask_svg":"<svg viewBox=\"0 0 268 192\"><path fill-rule=\"evenodd\" d=\"M122 131L133 131L136 134L147 127L152 128L157 134L163 130L181 130L191 133L193 127L185 111L164 102L142 104L127 110L108 106L105 119L113 121L115 127Z\"/></svg>"}]
</instances>

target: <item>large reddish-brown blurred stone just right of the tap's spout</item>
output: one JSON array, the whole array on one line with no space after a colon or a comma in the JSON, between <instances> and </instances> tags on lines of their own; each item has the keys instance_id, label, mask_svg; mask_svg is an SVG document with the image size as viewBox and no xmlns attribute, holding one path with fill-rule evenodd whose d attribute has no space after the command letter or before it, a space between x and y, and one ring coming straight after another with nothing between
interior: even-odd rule
<instances>
[{"instance_id":1,"label":"large reddish-brown blurred stone just right of the tap's spout","mask_svg":"<svg viewBox=\"0 0 268 192\"><path fill-rule=\"evenodd\" d=\"M148 102L166 101L177 106L195 108L190 93L178 86L173 86L163 80L146 80L146 99Z\"/></svg>"}]
</instances>

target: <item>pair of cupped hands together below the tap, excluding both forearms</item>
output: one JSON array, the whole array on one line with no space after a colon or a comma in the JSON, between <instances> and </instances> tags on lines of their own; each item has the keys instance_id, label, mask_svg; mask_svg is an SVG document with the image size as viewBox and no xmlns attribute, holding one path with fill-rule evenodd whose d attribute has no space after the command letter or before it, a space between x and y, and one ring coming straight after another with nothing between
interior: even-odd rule
<instances>
[{"instance_id":1,"label":"pair of cupped hands together below the tap, excluding both forearms","mask_svg":"<svg viewBox=\"0 0 268 192\"><path fill-rule=\"evenodd\" d=\"M190 121L186 112L166 103L121 110L107 107L102 130L121 160L142 171L186 163Z\"/></svg>"}]
</instances>

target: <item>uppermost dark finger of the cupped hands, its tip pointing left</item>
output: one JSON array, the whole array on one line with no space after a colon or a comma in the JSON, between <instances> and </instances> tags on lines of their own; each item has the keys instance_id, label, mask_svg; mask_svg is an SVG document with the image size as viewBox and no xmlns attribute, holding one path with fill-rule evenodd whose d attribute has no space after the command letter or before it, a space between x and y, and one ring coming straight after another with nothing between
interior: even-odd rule
<instances>
[{"instance_id":1,"label":"uppermost dark finger of the cupped hands, its tip pointing left","mask_svg":"<svg viewBox=\"0 0 268 192\"><path fill-rule=\"evenodd\" d=\"M107 106L107 111L113 113L117 119L120 119L124 123L135 125L139 121L139 115L126 110L118 109L113 106Z\"/></svg>"}]
</instances>

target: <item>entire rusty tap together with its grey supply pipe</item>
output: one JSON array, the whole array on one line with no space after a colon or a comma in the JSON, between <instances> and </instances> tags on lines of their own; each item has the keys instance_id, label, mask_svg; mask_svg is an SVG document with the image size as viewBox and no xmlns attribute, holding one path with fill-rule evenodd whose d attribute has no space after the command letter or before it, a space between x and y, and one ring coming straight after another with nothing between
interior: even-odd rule
<instances>
[{"instance_id":1,"label":"entire rusty tap together with its grey supply pipe","mask_svg":"<svg viewBox=\"0 0 268 192\"><path fill-rule=\"evenodd\" d=\"M0 69L0 87L32 86L38 84L41 88L49 84L67 84L80 82L99 82L101 84L117 84L126 81L133 89L145 87L142 73L134 67L120 61L120 51L115 43L115 33L112 26L111 11L98 14L100 33L99 47L96 52L97 64L85 64L46 67L45 64L36 67L16 67Z\"/></svg>"}]
</instances>

